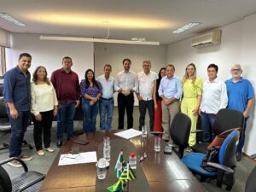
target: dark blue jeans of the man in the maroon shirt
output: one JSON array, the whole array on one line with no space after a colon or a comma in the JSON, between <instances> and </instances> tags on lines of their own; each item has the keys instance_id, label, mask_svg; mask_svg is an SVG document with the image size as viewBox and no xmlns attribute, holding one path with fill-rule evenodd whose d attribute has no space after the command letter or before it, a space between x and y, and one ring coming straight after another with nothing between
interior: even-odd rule
<instances>
[{"instance_id":1,"label":"dark blue jeans of the man in the maroon shirt","mask_svg":"<svg viewBox=\"0 0 256 192\"><path fill-rule=\"evenodd\" d=\"M57 138L63 140L63 131L67 130L67 139L73 137L73 117L76 113L75 102L61 102L57 114Z\"/></svg>"}]
</instances>

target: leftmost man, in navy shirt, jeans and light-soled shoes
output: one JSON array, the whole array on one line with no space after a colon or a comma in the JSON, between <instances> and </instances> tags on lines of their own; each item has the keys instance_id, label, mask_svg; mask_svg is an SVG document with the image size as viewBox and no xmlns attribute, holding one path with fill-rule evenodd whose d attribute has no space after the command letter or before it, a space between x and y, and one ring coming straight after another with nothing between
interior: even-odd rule
<instances>
[{"instance_id":1,"label":"leftmost man, in navy shirt, jeans and light-soled shoes","mask_svg":"<svg viewBox=\"0 0 256 192\"><path fill-rule=\"evenodd\" d=\"M28 71L31 61L31 55L20 54L18 66L5 73L3 81L3 97L11 124L9 157L19 157L21 160L32 160L31 156L21 154L23 137L31 118L31 75ZM16 160L8 164L15 167L21 166Z\"/></svg>"}]
</instances>

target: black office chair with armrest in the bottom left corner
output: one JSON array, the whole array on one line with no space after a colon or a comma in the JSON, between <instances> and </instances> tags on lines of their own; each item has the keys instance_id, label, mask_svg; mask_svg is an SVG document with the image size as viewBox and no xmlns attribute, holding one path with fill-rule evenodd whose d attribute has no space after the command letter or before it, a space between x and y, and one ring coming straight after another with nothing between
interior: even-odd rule
<instances>
[{"instance_id":1,"label":"black office chair with armrest in the bottom left corner","mask_svg":"<svg viewBox=\"0 0 256 192\"><path fill-rule=\"evenodd\" d=\"M12 160L18 160L23 166L24 172L10 179L8 172L3 169L4 164ZM41 181L44 179L44 174L40 172L28 172L27 166L23 160L19 158L9 158L0 162L0 191L2 192L36 192L41 187ZM1 190L3 189L3 190Z\"/></svg>"}]
</instances>

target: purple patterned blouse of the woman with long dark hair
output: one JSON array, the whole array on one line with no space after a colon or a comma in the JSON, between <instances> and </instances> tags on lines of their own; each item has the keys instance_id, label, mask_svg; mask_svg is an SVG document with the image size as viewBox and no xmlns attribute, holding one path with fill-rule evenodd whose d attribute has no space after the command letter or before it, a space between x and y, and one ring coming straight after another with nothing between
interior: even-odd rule
<instances>
[{"instance_id":1,"label":"purple patterned blouse of the woman with long dark hair","mask_svg":"<svg viewBox=\"0 0 256 192\"><path fill-rule=\"evenodd\" d=\"M81 80L80 89L81 89L81 96L83 99L84 95L87 94L88 96L96 97L99 93L102 93L102 84L97 81L98 87L96 85L90 87L86 86L85 80Z\"/></svg>"}]
</instances>

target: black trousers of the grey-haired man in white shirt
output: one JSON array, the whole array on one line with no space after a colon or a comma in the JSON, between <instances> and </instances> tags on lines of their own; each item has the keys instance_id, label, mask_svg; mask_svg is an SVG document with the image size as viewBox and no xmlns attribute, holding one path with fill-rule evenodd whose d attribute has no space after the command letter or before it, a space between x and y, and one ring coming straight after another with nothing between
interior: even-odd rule
<instances>
[{"instance_id":1,"label":"black trousers of the grey-haired man in white shirt","mask_svg":"<svg viewBox=\"0 0 256 192\"><path fill-rule=\"evenodd\" d=\"M149 101L139 101L139 111L140 111L140 125L139 130L142 131L143 125L145 125L145 115L146 109L148 108L148 115L149 115L149 125L150 131L154 129L154 100Z\"/></svg>"}]
</instances>

